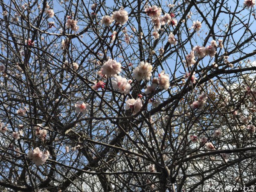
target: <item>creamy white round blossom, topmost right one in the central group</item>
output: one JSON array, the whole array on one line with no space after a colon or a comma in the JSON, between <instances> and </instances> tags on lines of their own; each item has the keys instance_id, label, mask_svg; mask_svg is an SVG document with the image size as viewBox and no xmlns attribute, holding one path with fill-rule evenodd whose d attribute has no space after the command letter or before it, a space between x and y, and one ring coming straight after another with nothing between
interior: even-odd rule
<instances>
[{"instance_id":1,"label":"creamy white round blossom, topmost right one in the central group","mask_svg":"<svg viewBox=\"0 0 256 192\"><path fill-rule=\"evenodd\" d=\"M150 63L141 61L138 67L133 70L132 77L137 81L141 79L149 81L152 76L153 67Z\"/></svg>"}]
</instances>

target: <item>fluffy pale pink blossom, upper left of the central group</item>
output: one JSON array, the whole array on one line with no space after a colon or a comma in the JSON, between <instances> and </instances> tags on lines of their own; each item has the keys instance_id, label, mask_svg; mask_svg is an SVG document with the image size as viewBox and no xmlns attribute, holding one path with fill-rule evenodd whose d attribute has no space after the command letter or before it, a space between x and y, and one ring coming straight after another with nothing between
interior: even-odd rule
<instances>
[{"instance_id":1,"label":"fluffy pale pink blossom, upper left of the central group","mask_svg":"<svg viewBox=\"0 0 256 192\"><path fill-rule=\"evenodd\" d=\"M103 64L101 74L106 77L112 77L119 74L121 71L121 64L116 62L116 60L109 59Z\"/></svg>"}]
</instances>

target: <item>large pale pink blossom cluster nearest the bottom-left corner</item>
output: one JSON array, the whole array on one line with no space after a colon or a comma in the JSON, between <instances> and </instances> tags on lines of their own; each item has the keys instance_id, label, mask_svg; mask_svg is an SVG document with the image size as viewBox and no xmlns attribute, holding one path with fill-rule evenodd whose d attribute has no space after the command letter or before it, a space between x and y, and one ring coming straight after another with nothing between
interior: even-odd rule
<instances>
[{"instance_id":1,"label":"large pale pink blossom cluster nearest the bottom-left corner","mask_svg":"<svg viewBox=\"0 0 256 192\"><path fill-rule=\"evenodd\" d=\"M36 166L43 165L49 157L49 151L43 153L37 147L33 151L29 150L28 155L26 157L32 160L32 162L35 163Z\"/></svg>"}]
</instances>

